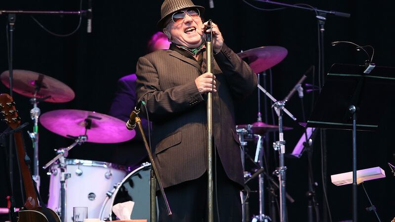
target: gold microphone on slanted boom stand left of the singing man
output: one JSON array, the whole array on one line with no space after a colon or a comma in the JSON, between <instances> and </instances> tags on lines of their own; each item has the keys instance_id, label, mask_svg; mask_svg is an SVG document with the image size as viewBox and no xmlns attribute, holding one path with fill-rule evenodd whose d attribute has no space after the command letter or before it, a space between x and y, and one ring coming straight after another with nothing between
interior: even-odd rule
<instances>
[{"instance_id":1,"label":"gold microphone on slanted boom stand left of the singing man","mask_svg":"<svg viewBox=\"0 0 395 222\"><path fill-rule=\"evenodd\" d=\"M143 104L145 104L145 103L143 102ZM155 164L154 158L152 157L151 148L148 146L147 138L145 137L143 127L141 126L141 119L138 116L139 112L140 112L140 109L138 109L138 110L136 109L136 110L132 111L130 116L132 117L132 115L133 115L135 117L134 118L135 124L130 127L128 125L129 122L127 122L126 125L127 125L127 129L129 129L129 130L134 129L136 127L136 125L138 126L138 129L141 133L141 137L143 138L143 141L144 141L145 149L147 150L148 157L150 158L150 162L151 162L151 166L152 166L151 178L150 178L150 220L151 220L151 222L157 222L157 200L156 200L157 182L159 185L160 193L162 194L162 197L163 197L163 203L166 206L166 211L167 211L168 216L171 215L171 210L170 210L170 206L167 201L167 198L166 198L166 194L164 193L164 190L163 190L162 182L161 182L159 174L158 174L157 165Z\"/></svg>"}]
</instances>

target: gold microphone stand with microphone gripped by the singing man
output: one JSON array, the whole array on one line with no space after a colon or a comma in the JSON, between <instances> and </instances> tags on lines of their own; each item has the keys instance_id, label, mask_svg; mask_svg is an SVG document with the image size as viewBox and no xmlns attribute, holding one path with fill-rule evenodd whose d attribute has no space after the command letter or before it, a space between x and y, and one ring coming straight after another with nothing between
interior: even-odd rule
<instances>
[{"instance_id":1,"label":"gold microphone stand with microphone gripped by the singing man","mask_svg":"<svg viewBox=\"0 0 395 222\"><path fill-rule=\"evenodd\" d=\"M207 28L212 28L211 19L208 20ZM207 34L206 38L206 61L207 73L212 73L213 47L211 44L212 31ZM213 78L214 83L214 78ZM213 84L214 88L214 84ZM212 93L207 93L207 222L213 222L214 219L214 201L213 201L213 131L212 131Z\"/></svg>"}]
</instances>

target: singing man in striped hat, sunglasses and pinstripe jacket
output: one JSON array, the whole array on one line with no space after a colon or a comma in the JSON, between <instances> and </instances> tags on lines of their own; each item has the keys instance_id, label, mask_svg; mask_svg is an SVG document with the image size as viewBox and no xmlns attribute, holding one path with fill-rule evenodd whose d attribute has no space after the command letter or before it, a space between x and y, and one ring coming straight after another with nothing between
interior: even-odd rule
<instances>
[{"instance_id":1,"label":"singing man in striped hat, sunglasses and pinstripe jacket","mask_svg":"<svg viewBox=\"0 0 395 222\"><path fill-rule=\"evenodd\" d=\"M206 28L201 18L204 7L191 0L165 0L160 10L158 27L171 41L170 48L139 58L136 72L137 98L146 102L153 122L154 160L173 213L168 217L159 200L159 221L206 220L205 100L206 93L212 92L214 221L240 222L239 191L244 179L234 101L255 89L256 75L224 43L216 24L212 23L212 30ZM213 73L206 72L204 45L210 31Z\"/></svg>"}]
</instances>

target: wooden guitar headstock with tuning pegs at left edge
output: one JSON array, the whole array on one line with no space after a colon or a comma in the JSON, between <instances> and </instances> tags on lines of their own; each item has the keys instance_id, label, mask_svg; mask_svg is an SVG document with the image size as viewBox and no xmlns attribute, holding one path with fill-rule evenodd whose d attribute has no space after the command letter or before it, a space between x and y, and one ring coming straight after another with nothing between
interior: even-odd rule
<instances>
[{"instance_id":1,"label":"wooden guitar headstock with tuning pegs at left edge","mask_svg":"<svg viewBox=\"0 0 395 222\"><path fill-rule=\"evenodd\" d=\"M21 124L21 118L15 109L15 102L12 97L6 93L0 94L0 117L12 129Z\"/></svg>"}]
</instances>

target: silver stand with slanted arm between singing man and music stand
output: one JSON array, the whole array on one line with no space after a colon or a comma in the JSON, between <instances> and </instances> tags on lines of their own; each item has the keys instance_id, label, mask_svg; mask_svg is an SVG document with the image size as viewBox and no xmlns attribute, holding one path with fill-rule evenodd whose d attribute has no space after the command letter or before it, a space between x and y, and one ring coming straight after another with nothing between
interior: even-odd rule
<instances>
[{"instance_id":1,"label":"silver stand with slanted arm between singing man and music stand","mask_svg":"<svg viewBox=\"0 0 395 222\"><path fill-rule=\"evenodd\" d=\"M286 101L277 101L268 91L266 91L261 85L258 84L258 88L262 90L273 102L272 108L275 109L276 114L278 115L278 138L279 140L273 143L273 148L278 150L279 157L279 167L277 168L278 172L278 182L280 186L280 222L287 221L287 210L286 210L286 192L285 192L285 171L286 166L284 165L284 153L285 153L285 141L284 135L282 132L282 114L285 112L289 115L293 120L296 120L295 116L292 115L287 109L285 109Z\"/></svg>"}]
</instances>

